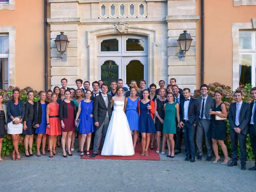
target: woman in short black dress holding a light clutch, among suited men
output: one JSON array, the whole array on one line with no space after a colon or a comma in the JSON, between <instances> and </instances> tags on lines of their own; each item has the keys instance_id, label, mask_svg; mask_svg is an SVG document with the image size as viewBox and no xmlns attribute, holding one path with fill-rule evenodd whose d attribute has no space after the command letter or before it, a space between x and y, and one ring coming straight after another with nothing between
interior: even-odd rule
<instances>
[{"instance_id":1,"label":"woman in short black dress holding a light clutch, among suited men","mask_svg":"<svg viewBox=\"0 0 256 192\"><path fill-rule=\"evenodd\" d=\"M224 161L221 164L228 164L230 158L228 157L227 146L224 143L226 140L226 122L225 120L216 120L216 116L221 118L226 118L228 116L228 112L226 109L226 105L222 102L222 92L220 90L216 90L214 92L215 97L215 105L212 111L209 112L211 116L211 124L208 131L208 137L212 138L212 148L215 155L215 160L213 163L217 163L220 159L218 154L218 144L221 146L222 152L224 154ZM222 113L219 113L222 112Z\"/></svg>"}]
</instances>

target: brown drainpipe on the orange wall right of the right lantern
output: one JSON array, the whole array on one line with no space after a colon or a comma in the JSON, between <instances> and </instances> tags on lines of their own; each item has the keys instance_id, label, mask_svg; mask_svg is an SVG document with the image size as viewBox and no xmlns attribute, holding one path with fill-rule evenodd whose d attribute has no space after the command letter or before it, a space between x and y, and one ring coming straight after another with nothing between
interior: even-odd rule
<instances>
[{"instance_id":1,"label":"brown drainpipe on the orange wall right of the right lantern","mask_svg":"<svg viewBox=\"0 0 256 192\"><path fill-rule=\"evenodd\" d=\"M201 85L204 84L204 0L201 1Z\"/></svg>"}]
</instances>

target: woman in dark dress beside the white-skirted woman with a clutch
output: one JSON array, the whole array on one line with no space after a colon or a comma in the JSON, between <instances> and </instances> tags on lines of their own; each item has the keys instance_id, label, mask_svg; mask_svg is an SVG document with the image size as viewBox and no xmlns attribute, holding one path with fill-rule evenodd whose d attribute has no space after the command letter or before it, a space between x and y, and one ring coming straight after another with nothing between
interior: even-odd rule
<instances>
[{"instance_id":1,"label":"woman in dark dress beside the white-skirted woman with a clutch","mask_svg":"<svg viewBox=\"0 0 256 192\"><path fill-rule=\"evenodd\" d=\"M27 93L28 102L25 103L25 116L23 121L23 132L26 135L24 138L25 156L33 156L32 146L33 146L33 136L35 134L35 129L32 127L32 121L34 116L34 92L29 91ZM28 151L29 146L29 151Z\"/></svg>"}]
</instances>

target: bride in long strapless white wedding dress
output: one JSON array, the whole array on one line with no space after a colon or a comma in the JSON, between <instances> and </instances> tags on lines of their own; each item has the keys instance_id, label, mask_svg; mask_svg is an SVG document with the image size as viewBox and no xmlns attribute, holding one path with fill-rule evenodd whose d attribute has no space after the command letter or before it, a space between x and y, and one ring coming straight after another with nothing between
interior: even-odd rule
<instances>
[{"instance_id":1,"label":"bride in long strapless white wedding dress","mask_svg":"<svg viewBox=\"0 0 256 192\"><path fill-rule=\"evenodd\" d=\"M108 125L104 145L101 151L103 156L132 156L134 149L132 144L132 135L126 114L124 113L124 100L122 96L123 88L116 89L117 96L111 98L111 107L114 110Z\"/></svg>"}]
</instances>

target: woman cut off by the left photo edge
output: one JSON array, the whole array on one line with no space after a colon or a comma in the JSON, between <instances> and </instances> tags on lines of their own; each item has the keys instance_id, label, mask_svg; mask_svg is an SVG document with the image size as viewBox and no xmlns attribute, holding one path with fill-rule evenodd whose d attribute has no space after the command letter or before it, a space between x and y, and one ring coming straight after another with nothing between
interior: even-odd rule
<instances>
[{"instance_id":1,"label":"woman cut off by the left photo edge","mask_svg":"<svg viewBox=\"0 0 256 192\"><path fill-rule=\"evenodd\" d=\"M4 98L2 95L0 95L0 162L3 161L1 158L2 153L2 141L4 139L4 135L6 133L6 130L4 128L4 124L6 124L6 105L2 104Z\"/></svg>"}]
</instances>

